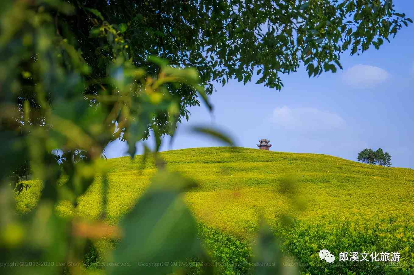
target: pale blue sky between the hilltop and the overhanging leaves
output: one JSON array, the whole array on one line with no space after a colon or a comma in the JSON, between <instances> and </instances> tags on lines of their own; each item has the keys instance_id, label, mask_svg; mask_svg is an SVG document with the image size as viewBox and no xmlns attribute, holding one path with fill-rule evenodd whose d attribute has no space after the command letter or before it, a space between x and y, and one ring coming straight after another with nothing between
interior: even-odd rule
<instances>
[{"instance_id":1,"label":"pale blue sky between the hilltop and the overhanging leaves","mask_svg":"<svg viewBox=\"0 0 414 275\"><path fill-rule=\"evenodd\" d=\"M394 1L397 12L414 19L414 3ZM308 78L304 68L282 75L281 92L230 81L205 106L190 108L188 122L178 126L173 145L161 150L222 146L221 142L190 132L191 126L216 127L242 147L258 148L271 140L273 151L318 153L356 161L364 148L382 148L392 166L414 168L414 24L403 28L380 50L360 56L343 55L344 70ZM153 146L153 142L148 142ZM106 148L108 158L126 155L118 140ZM138 154L142 148L138 147Z\"/></svg>"}]
</instances>

